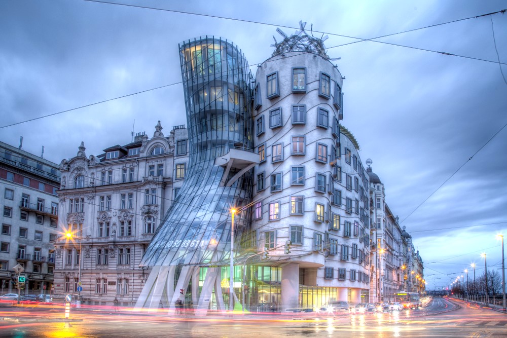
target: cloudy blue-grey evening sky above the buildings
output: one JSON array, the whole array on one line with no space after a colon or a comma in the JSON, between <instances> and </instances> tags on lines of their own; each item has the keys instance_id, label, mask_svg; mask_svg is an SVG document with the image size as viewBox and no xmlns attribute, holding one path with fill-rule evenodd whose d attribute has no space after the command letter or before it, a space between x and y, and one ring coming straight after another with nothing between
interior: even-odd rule
<instances>
[{"instance_id":1,"label":"cloudy blue-grey evening sky above the buildings","mask_svg":"<svg viewBox=\"0 0 507 338\"><path fill-rule=\"evenodd\" d=\"M501 272L507 13L482 15L507 3L116 2L152 9L0 1L0 140L18 146L22 136L25 151L40 155L44 146L44 158L60 163L81 141L87 156L99 155L129 143L132 131L151 136L159 120L168 135L187 123L179 43L232 41L255 75L273 36L280 41L276 28L292 34L302 20L315 36L329 35L328 55L341 58L333 62L345 77L342 124L412 235L427 289L450 285L473 262L483 274L482 252L488 270ZM395 35L364 41L388 34Z\"/></svg>"}]
</instances>

